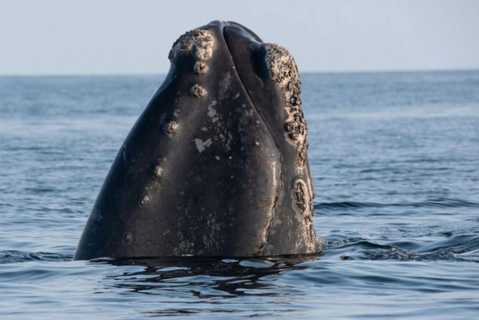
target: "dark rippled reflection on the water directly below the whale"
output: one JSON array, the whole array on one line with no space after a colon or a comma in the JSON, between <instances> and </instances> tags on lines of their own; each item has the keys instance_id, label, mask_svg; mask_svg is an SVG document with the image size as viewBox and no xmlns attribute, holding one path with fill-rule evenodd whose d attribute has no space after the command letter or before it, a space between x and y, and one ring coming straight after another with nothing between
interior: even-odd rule
<instances>
[{"instance_id":1,"label":"dark rippled reflection on the water directly below the whale","mask_svg":"<svg viewBox=\"0 0 479 320\"><path fill-rule=\"evenodd\" d=\"M312 267L319 255L289 255L261 258L168 258L96 259L95 263L142 267L140 271L108 275L103 284L134 293L162 295L190 293L200 299L214 297L285 295L275 277L285 271ZM174 294L172 294L174 295Z\"/></svg>"}]
</instances>

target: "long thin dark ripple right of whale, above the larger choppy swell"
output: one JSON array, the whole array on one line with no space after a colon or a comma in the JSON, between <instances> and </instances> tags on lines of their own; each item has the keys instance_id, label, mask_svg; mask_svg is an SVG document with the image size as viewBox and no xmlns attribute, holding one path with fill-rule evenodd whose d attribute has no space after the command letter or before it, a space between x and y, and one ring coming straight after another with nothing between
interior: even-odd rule
<instances>
[{"instance_id":1,"label":"long thin dark ripple right of whale, above the larger choppy swell","mask_svg":"<svg viewBox=\"0 0 479 320\"><path fill-rule=\"evenodd\" d=\"M385 208L385 207L403 207L403 208L479 208L479 202L467 201L463 199L437 198L428 199L419 202L401 202L380 204L375 202L360 201L337 201L321 202L314 205L315 210L322 209L348 209L348 208Z\"/></svg>"}]
</instances>

